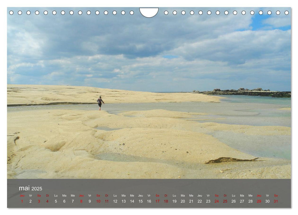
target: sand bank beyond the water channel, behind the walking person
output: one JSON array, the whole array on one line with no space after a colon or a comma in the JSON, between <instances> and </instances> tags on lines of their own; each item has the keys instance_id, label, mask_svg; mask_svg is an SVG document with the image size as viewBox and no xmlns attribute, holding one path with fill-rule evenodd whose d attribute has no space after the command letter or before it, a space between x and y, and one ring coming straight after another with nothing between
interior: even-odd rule
<instances>
[{"instance_id":1,"label":"sand bank beyond the water channel, behind the walking person","mask_svg":"<svg viewBox=\"0 0 298 215\"><path fill-rule=\"evenodd\" d=\"M109 98L107 103L219 102L217 96L198 93L154 93L95 87L7 84L9 106L97 103L99 96L102 96L103 101Z\"/></svg>"}]
</instances>

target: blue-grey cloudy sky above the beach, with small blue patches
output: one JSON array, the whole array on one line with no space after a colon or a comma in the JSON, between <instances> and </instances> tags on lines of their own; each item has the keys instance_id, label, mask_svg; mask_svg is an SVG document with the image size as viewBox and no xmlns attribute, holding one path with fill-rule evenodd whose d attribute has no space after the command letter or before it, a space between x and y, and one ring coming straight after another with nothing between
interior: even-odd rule
<instances>
[{"instance_id":1,"label":"blue-grey cloudy sky above the beach, with small blue patches","mask_svg":"<svg viewBox=\"0 0 298 215\"><path fill-rule=\"evenodd\" d=\"M8 8L7 13L8 84L151 92L291 90L290 8L159 8L153 18L138 8Z\"/></svg>"}]
</instances>

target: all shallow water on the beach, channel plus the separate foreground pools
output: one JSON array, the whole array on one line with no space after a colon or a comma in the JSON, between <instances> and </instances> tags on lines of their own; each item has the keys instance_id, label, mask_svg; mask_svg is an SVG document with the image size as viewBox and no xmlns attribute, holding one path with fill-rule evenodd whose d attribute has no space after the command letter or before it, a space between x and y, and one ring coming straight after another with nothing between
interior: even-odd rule
<instances>
[{"instance_id":1,"label":"all shallow water on the beach, channel plus the separate foreground pools","mask_svg":"<svg viewBox=\"0 0 298 215\"><path fill-rule=\"evenodd\" d=\"M182 102L182 103L125 103L104 104L102 110L111 114L123 111L145 111L164 109L169 111L183 111L207 113L187 120L198 122L215 122L225 124L242 124L253 126L287 126L291 127L291 111L278 110L279 108L291 107L290 98L272 98L261 96L221 96L221 103L213 102ZM7 111L50 109L72 110L98 110L97 104L77 105L44 105L44 106L20 106L7 107ZM112 131L109 127L97 127L96 129ZM233 133L232 131L217 131L210 135L219 139L226 145L252 154L256 157L272 157L291 159L291 136L289 135L246 135ZM143 158L123 157L122 155L102 154L100 158L106 160L130 160L141 161ZM151 162L151 161L147 161Z\"/></svg>"}]
</instances>

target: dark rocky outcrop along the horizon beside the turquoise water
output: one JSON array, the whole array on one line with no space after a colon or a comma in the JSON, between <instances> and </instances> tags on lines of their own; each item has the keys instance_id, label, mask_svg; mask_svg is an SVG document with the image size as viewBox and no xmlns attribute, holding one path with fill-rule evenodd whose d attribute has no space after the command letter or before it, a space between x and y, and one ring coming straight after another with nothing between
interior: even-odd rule
<instances>
[{"instance_id":1,"label":"dark rocky outcrop along the horizon beside the turquoise water","mask_svg":"<svg viewBox=\"0 0 298 215\"><path fill-rule=\"evenodd\" d=\"M192 91L193 93L201 93L206 95L246 95L246 96L272 96L272 97L291 97L291 91L270 91L262 88L255 88L253 90L239 88L238 90L220 90L215 88L213 91Z\"/></svg>"}]
</instances>

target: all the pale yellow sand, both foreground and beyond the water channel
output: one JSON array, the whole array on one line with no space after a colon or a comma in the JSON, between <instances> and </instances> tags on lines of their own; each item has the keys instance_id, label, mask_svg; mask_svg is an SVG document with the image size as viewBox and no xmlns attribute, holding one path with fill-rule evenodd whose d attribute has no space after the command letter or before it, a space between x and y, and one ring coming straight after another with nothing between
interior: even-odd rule
<instances>
[{"instance_id":1,"label":"all the pale yellow sand, both foreground and beyond the water channel","mask_svg":"<svg viewBox=\"0 0 298 215\"><path fill-rule=\"evenodd\" d=\"M75 86L7 86L7 105L202 102L220 97ZM98 107L97 107L98 108ZM34 109L7 112L8 178L291 178L291 161L253 156L214 132L290 137L291 127L198 122L206 113ZM288 110L288 109L284 109ZM241 142L241 139L239 139ZM228 162L223 162L228 158ZM230 160L229 160L230 158ZM232 158L238 161L232 161ZM255 160L253 160L255 159ZM207 163L212 160L215 162ZM216 161L217 160L217 161ZM241 161L250 160L250 161Z\"/></svg>"}]
</instances>

